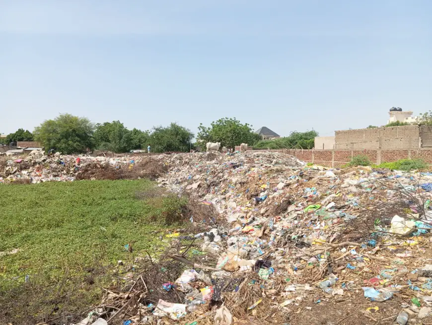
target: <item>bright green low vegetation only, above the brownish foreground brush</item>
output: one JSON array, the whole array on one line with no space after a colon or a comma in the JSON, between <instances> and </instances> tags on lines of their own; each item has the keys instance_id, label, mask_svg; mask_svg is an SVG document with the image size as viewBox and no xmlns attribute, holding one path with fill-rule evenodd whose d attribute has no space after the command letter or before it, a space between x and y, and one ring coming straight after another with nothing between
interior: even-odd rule
<instances>
[{"instance_id":1,"label":"bright green low vegetation only, above the brownish foreground brush","mask_svg":"<svg viewBox=\"0 0 432 325\"><path fill-rule=\"evenodd\" d=\"M136 252L149 249L158 226L137 193L151 186L145 180L1 185L0 252L19 252L0 257L0 279L79 271L94 260L115 264L130 258L124 248L130 242Z\"/></svg>"}]
</instances>

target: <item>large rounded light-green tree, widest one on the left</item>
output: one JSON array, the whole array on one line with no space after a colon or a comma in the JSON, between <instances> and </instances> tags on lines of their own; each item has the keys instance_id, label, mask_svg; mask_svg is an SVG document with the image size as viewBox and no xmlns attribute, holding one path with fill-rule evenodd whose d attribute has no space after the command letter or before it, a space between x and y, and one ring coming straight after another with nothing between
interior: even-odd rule
<instances>
[{"instance_id":1,"label":"large rounded light-green tree, widest one on the left","mask_svg":"<svg viewBox=\"0 0 432 325\"><path fill-rule=\"evenodd\" d=\"M60 114L46 120L34 130L36 141L45 150L54 149L63 154L83 153L94 148L94 125L87 119L71 114Z\"/></svg>"}]
</instances>

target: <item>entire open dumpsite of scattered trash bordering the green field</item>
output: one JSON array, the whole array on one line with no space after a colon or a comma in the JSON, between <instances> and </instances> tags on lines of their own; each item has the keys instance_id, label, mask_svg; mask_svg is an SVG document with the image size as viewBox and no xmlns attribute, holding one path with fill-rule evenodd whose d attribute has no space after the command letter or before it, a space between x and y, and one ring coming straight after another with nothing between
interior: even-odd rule
<instances>
[{"instance_id":1,"label":"entire open dumpsite of scattered trash bordering the green field","mask_svg":"<svg viewBox=\"0 0 432 325\"><path fill-rule=\"evenodd\" d=\"M150 179L144 199L188 201L162 213L179 217L155 235L161 253L124 238L133 259L113 265L94 305L68 313L59 296L34 322L432 324L431 173L331 169L272 151L0 159L0 188ZM1 250L5 283L2 260L22 248ZM19 324L2 304L1 321Z\"/></svg>"}]
</instances>

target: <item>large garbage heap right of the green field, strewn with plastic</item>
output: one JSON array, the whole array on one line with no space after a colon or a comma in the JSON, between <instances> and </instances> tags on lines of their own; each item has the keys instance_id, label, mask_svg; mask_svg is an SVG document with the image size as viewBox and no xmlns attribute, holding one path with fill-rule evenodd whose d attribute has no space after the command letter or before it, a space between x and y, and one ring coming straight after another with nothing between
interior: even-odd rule
<instances>
[{"instance_id":1,"label":"large garbage heap right of the green field, strewn with plastic","mask_svg":"<svg viewBox=\"0 0 432 325\"><path fill-rule=\"evenodd\" d=\"M146 306L146 320L432 323L432 174L306 166L276 152L165 160L159 186L213 206L226 224L191 234L219 256L216 270L186 270L171 290L189 298Z\"/></svg>"}]
</instances>

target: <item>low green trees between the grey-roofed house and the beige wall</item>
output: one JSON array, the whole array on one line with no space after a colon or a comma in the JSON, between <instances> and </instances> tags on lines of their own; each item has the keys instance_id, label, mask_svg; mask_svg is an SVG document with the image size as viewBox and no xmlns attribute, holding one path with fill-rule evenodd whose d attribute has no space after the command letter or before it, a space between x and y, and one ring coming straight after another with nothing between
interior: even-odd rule
<instances>
[{"instance_id":1,"label":"low green trees between the grey-roofed house and the beige wall","mask_svg":"<svg viewBox=\"0 0 432 325\"><path fill-rule=\"evenodd\" d=\"M312 149L315 136L318 136L318 132L315 130L306 132L293 131L289 136L279 139L261 140L254 147L257 149Z\"/></svg>"}]
</instances>

